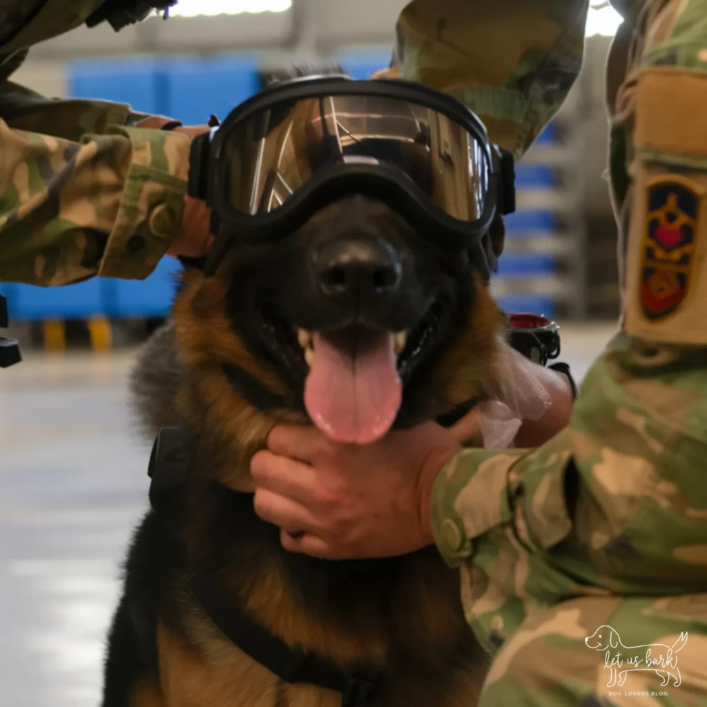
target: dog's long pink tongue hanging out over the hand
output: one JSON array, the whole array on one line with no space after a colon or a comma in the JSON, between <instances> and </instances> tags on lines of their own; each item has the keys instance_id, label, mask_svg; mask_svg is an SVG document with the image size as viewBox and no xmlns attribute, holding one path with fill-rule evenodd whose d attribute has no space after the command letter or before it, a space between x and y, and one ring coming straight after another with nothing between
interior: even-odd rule
<instances>
[{"instance_id":1,"label":"dog's long pink tongue hanging out over the hand","mask_svg":"<svg viewBox=\"0 0 707 707\"><path fill-rule=\"evenodd\" d=\"M390 429L402 400L390 334L315 334L305 405L337 442L370 444Z\"/></svg>"}]
</instances>

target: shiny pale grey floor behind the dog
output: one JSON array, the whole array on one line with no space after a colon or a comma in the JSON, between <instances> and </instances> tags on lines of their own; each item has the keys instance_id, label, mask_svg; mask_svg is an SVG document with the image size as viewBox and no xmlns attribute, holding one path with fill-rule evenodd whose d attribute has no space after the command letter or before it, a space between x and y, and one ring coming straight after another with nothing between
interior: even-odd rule
<instances>
[{"instance_id":1,"label":"shiny pale grey floor behind the dog","mask_svg":"<svg viewBox=\"0 0 707 707\"><path fill-rule=\"evenodd\" d=\"M566 327L577 378L612 327ZM0 370L0 707L97 707L119 563L147 508L132 354L28 356Z\"/></svg>"}]
</instances>

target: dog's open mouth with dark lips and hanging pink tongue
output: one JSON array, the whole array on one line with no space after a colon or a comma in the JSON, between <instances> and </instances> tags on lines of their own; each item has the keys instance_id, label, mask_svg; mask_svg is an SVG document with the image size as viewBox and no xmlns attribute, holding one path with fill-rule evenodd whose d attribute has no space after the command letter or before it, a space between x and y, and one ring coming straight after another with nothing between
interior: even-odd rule
<instances>
[{"instance_id":1,"label":"dog's open mouth with dark lips and hanging pink tongue","mask_svg":"<svg viewBox=\"0 0 707 707\"><path fill-rule=\"evenodd\" d=\"M403 386L442 337L446 315L437 301L403 332L359 324L310 332L272 307L262 321L274 353L305 378L305 407L317 427L337 442L370 444L395 422Z\"/></svg>"}]
</instances>

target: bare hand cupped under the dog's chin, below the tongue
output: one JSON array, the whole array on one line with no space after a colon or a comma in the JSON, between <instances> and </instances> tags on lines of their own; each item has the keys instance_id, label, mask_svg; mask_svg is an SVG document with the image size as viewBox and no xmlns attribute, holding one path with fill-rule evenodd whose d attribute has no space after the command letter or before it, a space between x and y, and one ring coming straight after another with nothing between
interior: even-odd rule
<instances>
[{"instance_id":1,"label":"bare hand cupped under the dog's chin, below the tongue","mask_svg":"<svg viewBox=\"0 0 707 707\"><path fill-rule=\"evenodd\" d=\"M428 422L370 445L281 425L251 462L255 512L283 547L325 559L407 554L434 542L432 487L460 445Z\"/></svg>"}]
</instances>

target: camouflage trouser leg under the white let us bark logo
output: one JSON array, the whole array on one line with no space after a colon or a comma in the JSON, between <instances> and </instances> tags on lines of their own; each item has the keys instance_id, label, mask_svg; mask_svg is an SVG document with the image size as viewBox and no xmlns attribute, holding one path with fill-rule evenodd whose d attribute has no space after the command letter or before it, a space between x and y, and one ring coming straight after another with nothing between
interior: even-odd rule
<instances>
[{"instance_id":1,"label":"camouflage trouser leg under the white let us bark logo","mask_svg":"<svg viewBox=\"0 0 707 707\"><path fill-rule=\"evenodd\" d=\"M582 597L531 614L479 706L575 705L707 707L707 594Z\"/></svg>"}]
</instances>

